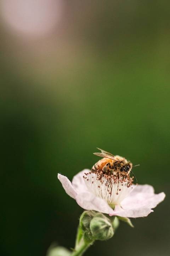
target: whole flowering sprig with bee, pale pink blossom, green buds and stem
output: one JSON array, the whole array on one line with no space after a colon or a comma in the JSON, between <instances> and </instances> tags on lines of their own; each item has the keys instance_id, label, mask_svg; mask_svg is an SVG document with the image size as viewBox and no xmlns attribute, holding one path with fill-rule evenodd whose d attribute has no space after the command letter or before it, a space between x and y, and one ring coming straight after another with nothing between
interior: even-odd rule
<instances>
[{"instance_id":1,"label":"whole flowering sprig with bee, pale pink blossom, green buds and stem","mask_svg":"<svg viewBox=\"0 0 170 256\"><path fill-rule=\"evenodd\" d=\"M130 161L99 150L94 154L102 159L91 170L76 174L72 182L58 174L66 193L85 209L80 216L73 256L83 255L95 240L112 238L119 220L133 227L129 218L146 217L165 198L164 192L155 194L150 185L134 184L134 166Z\"/></svg>"}]
</instances>

